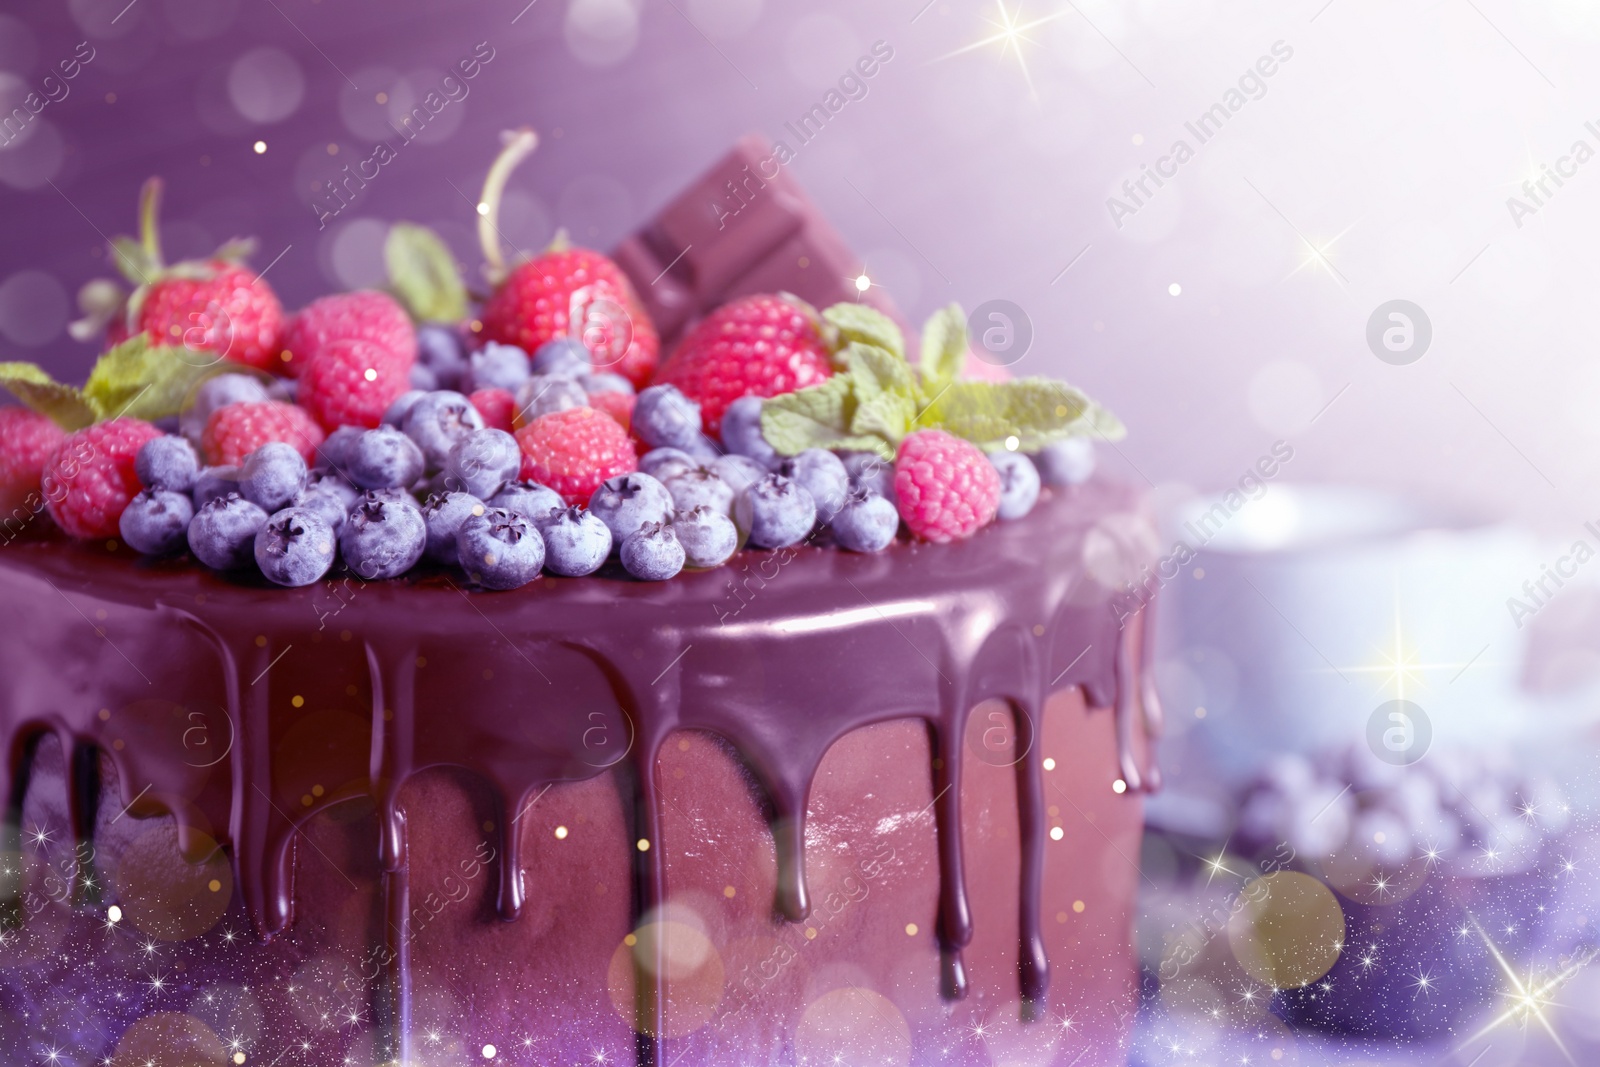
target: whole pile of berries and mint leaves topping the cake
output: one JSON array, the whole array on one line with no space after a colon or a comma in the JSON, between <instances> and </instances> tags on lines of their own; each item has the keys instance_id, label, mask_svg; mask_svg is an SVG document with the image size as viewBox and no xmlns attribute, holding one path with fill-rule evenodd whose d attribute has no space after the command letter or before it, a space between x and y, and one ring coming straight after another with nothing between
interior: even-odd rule
<instances>
[{"instance_id":1,"label":"whole pile of berries and mint leaves topping the cake","mask_svg":"<svg viewBox=\"0 0 1600 1067\"><path fill-rule=\"evenodd\" d=\"M616 262L560 235L504 254L501 195L536 146L509 133L490 166L477 301L443 242L400 222L387 291L285 315L245 266L251 242L166 264L146 182L139 235L112 242L133 290L80 294L75 336L107 346L88 381L0 363L24 405L0 408L5 539L48 515L285 587L418 566L469 590L606 568L664 581L741 547L962 541L1083 480L1090 442L1123 432L1064 382L974 362L954 304L912 360L867 302L754 293L662 362Z\"/></svg>"}]
</instances>

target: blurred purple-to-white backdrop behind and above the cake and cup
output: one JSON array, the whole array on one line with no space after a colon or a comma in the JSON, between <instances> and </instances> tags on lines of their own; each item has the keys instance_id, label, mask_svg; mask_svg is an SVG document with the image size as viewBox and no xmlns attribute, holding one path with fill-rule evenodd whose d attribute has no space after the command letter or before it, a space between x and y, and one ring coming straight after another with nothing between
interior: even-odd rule
<instances>
[{"instance_id":1,"label":"blurred purple-to-white backdrop behind and above the cake and cup","mask_svg":"<svg viewBox=\"0 0 1600 1067\"><path fill-rule=\"evenodd\" d=\"M787 138L885 40L894 59L792 173L914 317L950 299L1027 309L1018 370L1122 414L1112 462L1130 477L1222 486L1285 438L1285 480L1466 498L1576 536L1600 470L1600 163L1522 227L1506 198L1574 139L1600 147L1584 128L1600 117L1584 110L1592 5L1029 0L1005 8L1048 19L1027 40L950 56L994 35L1002 8L923 3L8 5L6 109L77 42L96 58L0 150L0 357L86 373L91 347L62 330L70 294L104 270L102 235L131 229L147 174L170 182L170 253L254 234L258 269L288 250L269 277L296 307L374 282L390 219L440 227L475 270L467 198L501 128L544 134L506 230L538 248L562 224L608 248L738 134ZM1195 144L1184 122L1278 40L1293 58L1264 96L1118 230L1107 195L1176 138ZM470 96L318 232L310 186L371 150L389 110L376 94L426 91L478 42L496 58ZM1394 298L1434 323L1413 366L1365 342Z\"/></svg>"}]
</instances>

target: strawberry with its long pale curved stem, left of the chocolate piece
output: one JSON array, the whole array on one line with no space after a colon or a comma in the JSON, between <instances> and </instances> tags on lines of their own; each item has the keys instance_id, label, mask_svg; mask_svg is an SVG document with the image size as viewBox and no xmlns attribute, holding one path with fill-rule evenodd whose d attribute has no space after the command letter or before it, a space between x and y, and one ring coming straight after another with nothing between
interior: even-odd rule
<instances>
[{"instance_id":1,"label":"strawberry with its long pale curved stem, left of the chocolate piece","mask_svg":"<svg viewBox=\"0 0 1600 1067\"><path fill-rule=\"evenodd\" d=\"M478 238L490 282L483 338L530 355L552 338L578 338L595 370L616 371L643 387L656 370L661 339L622 269L558 234L539 256L507 266L499 248L499 200L510 171L538 146L531 130L507 134L478 198Z\"/></svg>"}]
</instances>

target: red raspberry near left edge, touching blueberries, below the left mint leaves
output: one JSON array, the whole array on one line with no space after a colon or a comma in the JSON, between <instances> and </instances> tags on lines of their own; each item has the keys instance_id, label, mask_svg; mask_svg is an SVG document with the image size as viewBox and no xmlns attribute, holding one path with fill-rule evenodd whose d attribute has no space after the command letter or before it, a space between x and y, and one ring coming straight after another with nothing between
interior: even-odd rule
<instances>
[{"instance_id":1,"label":"red raspberry near left edge, touching blueberries, below the left mint leaves","mask_svg":"<svg viewBox=\"0 0 1600 1067\"><path fill-rule=\"evenodd\" d=\"M67 534L115 537L122 512L139 494L134 458L162 432L144 419L98 422L62 438L40 478L45 507Z\"/></svg>"}]
</instances>

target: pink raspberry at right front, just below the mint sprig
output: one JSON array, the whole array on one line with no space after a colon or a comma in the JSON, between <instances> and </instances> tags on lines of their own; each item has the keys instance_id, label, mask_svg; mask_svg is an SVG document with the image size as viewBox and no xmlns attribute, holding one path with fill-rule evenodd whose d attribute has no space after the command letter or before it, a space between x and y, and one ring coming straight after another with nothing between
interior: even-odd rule
<instances>
[{"instance_id":1,"label":"pink raspberry at right front, just below the mint sprig","mask_svg":"<svg viewBox=\"0 0 1600 1067\"><path fill-rule=\"evenodd\" d=\"M970 537L1000 507L1000 475L973 445L944 430L917 430L894 459L894 496L906 526L923 541Z\"/></svg>"}]
</instances>

